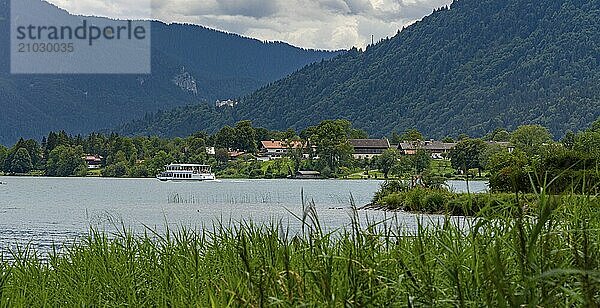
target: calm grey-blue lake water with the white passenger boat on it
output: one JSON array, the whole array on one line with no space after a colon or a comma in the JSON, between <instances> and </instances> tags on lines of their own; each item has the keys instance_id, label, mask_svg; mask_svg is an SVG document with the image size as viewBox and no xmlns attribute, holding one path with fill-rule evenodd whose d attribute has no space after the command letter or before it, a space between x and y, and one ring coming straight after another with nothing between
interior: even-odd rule
<instances>
[{"instance_id":1,"label":"calm grey-blue lake water with the white passenger boat on it","mask_svg":"<svg viewBox=\"0 0 600 308\"><path fill-rule=\"evenodd\" d=\"M124 224L134 230L145 226L211 227L218 221L283 221L290 228L300 222L301 195L314 200L321 222L328 228L350 223L350 199L357 206L370 202L381 181L340 180L221 180L172 183L154 179L0 177L0 252L31 244L41 250L53 243L70 243L90 227L115 231ZM464 182L449 183L465 191ZM487 189L472 182L470 191ZM361 211L382 220L394 216L407 228L416 215Z\"/></svg>"}]
</instances>

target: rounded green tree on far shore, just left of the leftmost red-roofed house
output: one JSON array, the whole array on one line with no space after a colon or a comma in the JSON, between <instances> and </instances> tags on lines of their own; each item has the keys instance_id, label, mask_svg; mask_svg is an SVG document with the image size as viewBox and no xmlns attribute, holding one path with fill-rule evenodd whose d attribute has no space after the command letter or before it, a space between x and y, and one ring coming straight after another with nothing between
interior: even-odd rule
<instances>
[{"instance_id":1,"label":"rounded green tree on far shore, just left of the leftmost red-roofed house","mask_svg":"<svg viewBox=\"0 0 600 308\"><path fill-rule=\"evenodd\" d=\"M84 153L81 146L71 147L60 145L54 148L46 163L46 175L48 176L84 176L87 166L83 159Z\"/></svg>"}]
</instances>

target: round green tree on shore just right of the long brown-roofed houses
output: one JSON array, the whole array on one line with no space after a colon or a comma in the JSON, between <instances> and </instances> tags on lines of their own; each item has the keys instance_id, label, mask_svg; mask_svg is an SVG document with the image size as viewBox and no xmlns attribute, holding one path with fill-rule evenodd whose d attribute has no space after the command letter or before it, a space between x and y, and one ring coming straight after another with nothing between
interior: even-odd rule
<instances>
[{"instance_id":1,"label":"round green tree on shore just right of the long brown-roofed houses","mask_svg":"<svg viewBox=\"0 0 600 308\"><path fill-rule=\"evenodd\" d=\"M462 170L465 174L471 169L477 168L479 176L483 164L482 154L486 150L487 144L481 139L464 139L460 141L452 151L450 151L450 160L452 167Z\"/></svg>"}]
</instances>

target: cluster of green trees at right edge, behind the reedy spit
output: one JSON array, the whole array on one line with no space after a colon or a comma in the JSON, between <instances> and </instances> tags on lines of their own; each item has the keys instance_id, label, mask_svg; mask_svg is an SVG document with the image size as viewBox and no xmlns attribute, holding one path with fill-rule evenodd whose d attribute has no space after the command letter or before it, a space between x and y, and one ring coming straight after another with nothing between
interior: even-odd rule
<instances>
[{"instance_id":1,"label":"cluster of green trees at right edge, behind the reedy spit","mask_svg":"<svg viewBox=\"0 0 600 308\"><path fill-rule=\"evenodd\" d=\"M514 150L480 139L460 141L450 153L452 166L467 173L487 170L490 187L499 192L533 192L546 189L595 192L600 184L600 119L588 129L556 142L545 127L524 125L512 133L486 138L509 141ZM489 140L489 139L488 139Z\"/></svg>"}]
</instances>

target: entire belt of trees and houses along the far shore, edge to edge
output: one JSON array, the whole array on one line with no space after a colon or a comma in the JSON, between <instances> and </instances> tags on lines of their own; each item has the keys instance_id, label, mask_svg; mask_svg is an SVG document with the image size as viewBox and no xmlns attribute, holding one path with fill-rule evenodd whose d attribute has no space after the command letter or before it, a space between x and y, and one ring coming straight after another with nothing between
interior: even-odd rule
<instances>
[{"instance_id":1,"label":"entire belt of trees and houses along the far shore, edge to edge","mask_svg":"<svg viewBox=\"0 0 600 308\"><path fill-rule=\"evenodd\" d=\"M425 146L426 136L411 129L379 139L389 147L357 155L352 141L369 141L369 136L346 120L323 121L299 133L241 121L215 134L198 132L186 138L72 136L63 131L51 132L40 142L21 139L10 148L0 146L0 172L143 178L156 176L170 163L197 163L211 165L220 178L287 178L302 170L317 171L322 178L421 182L471 176L489 179L492 189L506 191L529 186L532 170L540 177L553 177L568 169L570 177L562 177L568 181L582 170L597 168L599 135L600 121L580 132L566 132L560 140L542 126L524 125L480 138L446 137L439 143L451 148L432 155ZM270 155L265 141L279 142L281 153L263 159Z\"/></svg>"}]
</instances>

